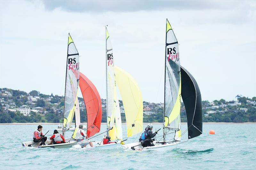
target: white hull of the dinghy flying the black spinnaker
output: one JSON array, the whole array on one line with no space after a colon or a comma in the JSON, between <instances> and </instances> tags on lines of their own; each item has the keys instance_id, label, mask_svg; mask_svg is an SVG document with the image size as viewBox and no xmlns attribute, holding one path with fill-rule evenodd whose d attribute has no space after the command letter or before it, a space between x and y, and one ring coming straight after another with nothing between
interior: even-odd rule
<instances>
[{"instance_id":1,"label":"white hull of the dinghy flying the black spinnaker","mask_svg":"<svg viewBox=\"0 0 256 170\"><path fill-rule=\"evenodd\" d=\"M159 142L154 141L153 144L155 144L155 146L148 146L148 147L143 148L143 146L141 146L140 142L135 142L135 143L131 143L131 144L124 144L123 147L127 148L129 150L137 150L137 151L138 150L170 151L172 149L177 148L177 145L179 144L179 142L166 141L164 143L163 141L159 141Z\"/></svg>"}]
</instances>

